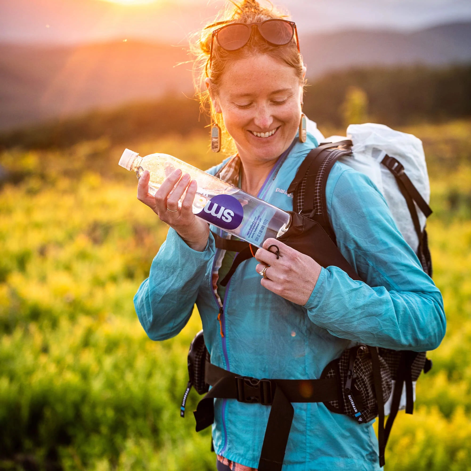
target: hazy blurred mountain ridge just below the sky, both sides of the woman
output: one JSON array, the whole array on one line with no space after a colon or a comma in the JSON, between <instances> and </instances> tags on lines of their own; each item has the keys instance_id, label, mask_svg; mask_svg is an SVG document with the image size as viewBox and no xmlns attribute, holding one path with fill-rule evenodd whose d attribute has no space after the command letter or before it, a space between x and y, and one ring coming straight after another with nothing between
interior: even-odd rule
<instances>
[{"instance_id":1,"label":"hazy blurred mountain ridge just below the sky, both sides of the woman","mask_svg":"<svg viewBox=\"0 0 471 471\"><path fill-rule=\"evenodd\" d=\"M471 22L417 32L333 31L300 37L308 76L352 66L471 62ZM164 95L193 95L186 47L109 41L0 43L0 129Z\"/></svg>"}]
</instances>

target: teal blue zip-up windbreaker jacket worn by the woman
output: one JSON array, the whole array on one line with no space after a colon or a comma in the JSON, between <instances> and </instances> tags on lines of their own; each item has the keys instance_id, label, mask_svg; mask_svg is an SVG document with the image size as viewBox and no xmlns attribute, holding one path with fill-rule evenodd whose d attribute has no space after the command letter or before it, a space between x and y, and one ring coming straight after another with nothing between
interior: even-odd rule
<instances>
[{"instance_id":1,"label":"teal blue zip-up windbreaker jacket worn by the woman","mask_svg":"<svg viewBox=\"0 0 471 471\"><path fill-rule=\"evenodd\" d=\"M311 134L307 142L297 142L259 197L292 210L286 190L315 146ZM221 165L209 172L215 174ZM210 235L205 250L196 252L169 229L134 297L148 336L165 340L177 335L196 303L211 362L255 378L317 379L327 363L358 343L396 350L437 348L446 325L441 294L400 234L383 196L370 179L339 162L327 180L326 195L337 245L366 283L340 268L322 268L308 302L300 306L263 288L252 258L237 268L227 286L222 338L211 288L214 238ZM373 421L358 424L322 403L293 407L284 471L379 469ZM269 406L216 399L214 409L216 453L256 468Z\"/></svg>"}]
</instances>

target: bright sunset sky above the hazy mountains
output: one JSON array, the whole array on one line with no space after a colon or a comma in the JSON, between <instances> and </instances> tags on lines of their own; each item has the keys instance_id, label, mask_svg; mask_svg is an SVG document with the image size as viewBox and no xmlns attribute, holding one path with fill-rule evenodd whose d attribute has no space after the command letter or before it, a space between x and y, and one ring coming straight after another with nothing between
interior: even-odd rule
<instances>
[{"instance_id":1,"label":"bright sunset sky above the hazy mountains","mask_svg":"<svg viewBox=\"0 0 471 471\"><path fill-rule=\"evenodd\" d=\"M300 34L345 29L416 30L471 21L471 0L283 0ZM0 41L186 42L222 0L0 0Z\"/></svg>"}]
</instances>

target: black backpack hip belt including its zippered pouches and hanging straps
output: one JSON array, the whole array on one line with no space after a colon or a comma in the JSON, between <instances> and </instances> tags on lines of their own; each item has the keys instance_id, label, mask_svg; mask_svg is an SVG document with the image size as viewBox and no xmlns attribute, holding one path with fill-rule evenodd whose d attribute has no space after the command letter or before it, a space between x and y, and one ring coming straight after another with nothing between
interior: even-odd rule
<instances>
[{"instance_id":1,"label":"black backpack hip belt including its zippered pouches and hanging straps","mask_svg":"<svg viewBox=\"0 0 471 471\"><path fill-rule=\"evenodd\" d=\"M206 394L194 412L196 431L214 422L215 398L271 406L258 469L281 471L294 414L291 403L322 402L329 411L348 415L357 423L379 418L379 462L383 466L384 448L398 414L403 389L406 389L406 414L412 414L413 382L422 369L427 373L430 368L431 362L426 359L425 352L399 352L357 345L328 363L320 379L257 379L212 365L201 331L191 342L188 352L189 382L180 415L185 416L191 387L195 387L198 394ZM384 424L384 405L389 398L390 415Z\"/></svg>"}]
</instances>

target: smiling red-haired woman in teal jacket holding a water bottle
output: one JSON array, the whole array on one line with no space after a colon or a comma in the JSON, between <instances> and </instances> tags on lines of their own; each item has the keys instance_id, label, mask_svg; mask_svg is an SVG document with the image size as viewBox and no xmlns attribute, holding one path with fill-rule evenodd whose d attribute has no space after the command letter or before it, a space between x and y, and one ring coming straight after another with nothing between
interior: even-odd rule
<instances>
[{"instance_id":1,"label":"smiling red-haired woman in teal jacket holding a water bottle","mask_svg":"<svg viewBox=\"0 0 471 471\"><path fill-rule=\"evenodd\" d=\"M235 155L209 173L290 211L286 190L322 135L310 122L306 142L298 139L306 68L294 26L287 44L263 37L270 32L261 22L270 18L282 16L243 0L203 30L211 115L223 129L226 148L235 146ZM252 24L250 34L245 26L216 31L231 23ZM243 376L286 379L319 378L325 365L358 343L415 351L439 345L445 332L440 292L363 174L336 163L326 195L337 245L367 284L268 239L256 260L242 263L225 288L219 280L234 253L216 250L208 224L191 212L195 181L176 170L155 197L147 183L145 173L138 199L170 226L134 298L151 339L177 335L196 303L212 364ZM273 243L283 255L279 260L267 250ZM378 468L371 422L358 424L322 403L293 407L283 470ZM212 437L219 470L257 467L269 409L234 399L215 401Z\"/></svg>"}]
</instances>

